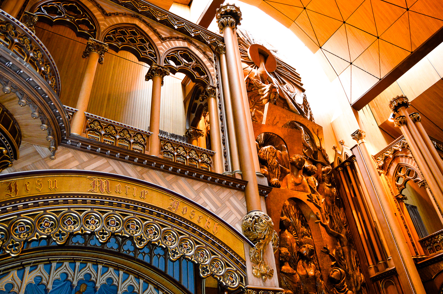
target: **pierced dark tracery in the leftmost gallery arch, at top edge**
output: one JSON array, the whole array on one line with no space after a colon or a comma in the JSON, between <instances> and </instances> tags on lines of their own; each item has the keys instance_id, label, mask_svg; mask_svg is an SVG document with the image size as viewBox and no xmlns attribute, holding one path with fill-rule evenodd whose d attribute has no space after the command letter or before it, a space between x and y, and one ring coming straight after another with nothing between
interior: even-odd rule
<instances>
[{"instance_id":1,"label":"pierced dark tracery in the leftmost gallery arch, at top edge","mask_svg":"<svg viewBox=\"0 0 443 294\"><path fill-rule=\"evenodd\" d=\"M97 38L99 26L93 14L82 4L74 1L48 1L34 9L39 21L49 24L65 24L79 37Z\"/></svg>"}]
</instances>

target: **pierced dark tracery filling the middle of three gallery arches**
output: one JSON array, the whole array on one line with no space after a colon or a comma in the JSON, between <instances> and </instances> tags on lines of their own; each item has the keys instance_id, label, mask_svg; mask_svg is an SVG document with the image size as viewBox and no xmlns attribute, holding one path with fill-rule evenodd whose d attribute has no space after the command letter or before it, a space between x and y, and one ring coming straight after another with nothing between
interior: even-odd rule
<instances>
[{"instance_id":1,"label":"pierced dark tracery filling the middle of three gallery arches","mask_svg":"<svg viewBox=\"0 0 443 294\"><path fill-rule=\"evenodd\" d=\"M109 47L116 52L120 50L129 51L139 61L146 62L149 65L152 62L158 63L159 53L154 42L139 27L130 24L113 27L105 34L103 42L109 44Z\"/></svg>"}]
</instances>

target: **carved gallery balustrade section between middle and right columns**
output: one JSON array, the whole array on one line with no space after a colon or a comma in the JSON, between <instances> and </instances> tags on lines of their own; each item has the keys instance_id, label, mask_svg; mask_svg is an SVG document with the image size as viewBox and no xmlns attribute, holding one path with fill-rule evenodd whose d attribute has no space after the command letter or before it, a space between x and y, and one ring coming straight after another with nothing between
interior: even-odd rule
<instances>
[{"instance_id":1,"label":"carved gallery balustrade section between middle and right columns","mask_svg":"<svg viewBox=\"0 0 443 294\"><path fill-rule=\"evenodd\" d=\"M214 151L173 140L164 136L160 137L161 154L164 159L186 164L206 171L213 171Z\"/></svg>"}]
</instances>

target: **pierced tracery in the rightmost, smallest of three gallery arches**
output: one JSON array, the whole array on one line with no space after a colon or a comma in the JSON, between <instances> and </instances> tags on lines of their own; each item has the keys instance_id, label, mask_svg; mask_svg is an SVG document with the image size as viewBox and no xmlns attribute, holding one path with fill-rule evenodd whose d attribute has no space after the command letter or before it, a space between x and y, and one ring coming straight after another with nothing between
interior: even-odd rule
<instances>
[{"instance_id":1,"label":"pierced tracery in the rightmost, smallest of three gallery arches","mask_svg":"<svg viewBox=\"0 0 443 294\"><path fill-rule=\"evenodd\" d=\"M185 73L194 83L212 85L209 69L203 61L187 47L174 47L163 54L162 65L171 73Z\"/></svg>"}]
</instances>

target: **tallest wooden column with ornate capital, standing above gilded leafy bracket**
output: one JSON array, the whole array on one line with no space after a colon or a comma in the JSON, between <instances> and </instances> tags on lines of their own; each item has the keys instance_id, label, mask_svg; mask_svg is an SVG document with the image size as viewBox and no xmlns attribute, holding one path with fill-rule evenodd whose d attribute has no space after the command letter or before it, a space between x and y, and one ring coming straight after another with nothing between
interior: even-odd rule
<instances>
[{"instance_id":1,"label":"tallest wooden column with ornate capital, standing above gilded leafy bracket","mask_svg":"<svg viewBox=\"0 0 443 294\"><path fill-rule=\"evenodd\" d=\"M220 8L221 9L221 8ZM229 15L227 11L217 11L218 28L223 33L226 45L226 61L229 75L229 89L232 97L232 108L235 121L235 132L237 136L238 152L243 179L248 181L245 189L246 208L251 210L261 210L260 195L258 194L258 184L255 173L252 143L249 136L248 121L246 119L245 103L241 87L243 77L237 63L237 53L234 44L234 29L240 22L240 17ZM223 14L220 14L223 12ZM237 19L234 19L237 17ZM249 110L248 110L249 111ZM255 147L254 147L255 148Z\"/></svg>"}]
</instances>

